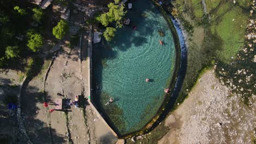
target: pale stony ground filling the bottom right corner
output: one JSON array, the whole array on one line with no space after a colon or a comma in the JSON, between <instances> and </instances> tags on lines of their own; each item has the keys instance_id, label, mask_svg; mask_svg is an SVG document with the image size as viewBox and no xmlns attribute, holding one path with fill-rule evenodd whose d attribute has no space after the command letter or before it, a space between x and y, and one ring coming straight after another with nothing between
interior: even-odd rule
<instances>
[{"instance_id":1,"label":"pale stony ground filling the bottom right corner","mask_svg":"<svg viewBox=\"0 0 256 144\"><path fill-rule=\"evenodd\" d=\"M240 103L220 84L213 70L202 75L188 99L168 116L170 131L158 143L252 143L255 140L256 98Z\"/></svg>"}]
</instances>

